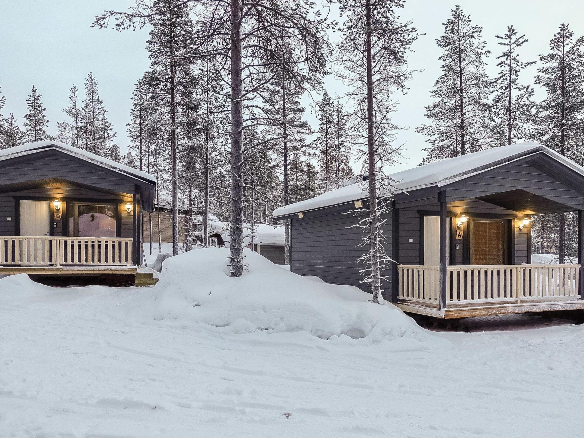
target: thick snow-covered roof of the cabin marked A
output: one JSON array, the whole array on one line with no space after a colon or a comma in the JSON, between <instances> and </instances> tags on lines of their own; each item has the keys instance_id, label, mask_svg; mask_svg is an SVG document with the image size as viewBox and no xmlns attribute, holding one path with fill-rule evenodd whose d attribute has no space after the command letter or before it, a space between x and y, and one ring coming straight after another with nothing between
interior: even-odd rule
<instances>
[{"instance_id":1,"label":"thick snow-covered roof of the cabin marked A","mask_svg":"<svg viewBox=\"0 0 584 438\"><path fill-rule=\"evenodd\" d=\"M544 152L544 154L568 166L573 171L584 175L584 168L577 165L571 159L539 143L529 141L491 148L485 151L472 152L472 154L447 158L424 166L416 166L412 169L392 173L390 177L395 181L392 193L407 193L412 190L423 189L424 187L444 186L457 179L467 178L474 173L484 172L487 169L492 169L537 152ZM273 217L281 217L288 214L300 213L301 211L315 210L316 208L366 199L368 197L368 190L367 182L340 187L340 189L331 190L311 199L276 208ZM381 193L380 196L387 194L390 193Z\"/></svg>"}]
</instances>

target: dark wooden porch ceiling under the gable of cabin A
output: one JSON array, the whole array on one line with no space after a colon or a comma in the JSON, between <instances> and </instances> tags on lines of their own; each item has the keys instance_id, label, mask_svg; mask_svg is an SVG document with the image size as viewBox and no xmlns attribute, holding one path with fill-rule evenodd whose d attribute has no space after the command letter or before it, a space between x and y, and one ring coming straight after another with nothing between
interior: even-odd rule
<instances>
[{"instance_id":1,"label":"dark wooden porch ceiling under the gable of cabin A","mask_svg":"<svg viewBox=\"0 0 584 438\"><path fill-rule=\"evenodd\" d=\"M477 199L508 210L518 211L521 214L561 213L562 211L574 210L573 207L523 189L488 194L477 197Z\"/></svg>"}]
</instances>

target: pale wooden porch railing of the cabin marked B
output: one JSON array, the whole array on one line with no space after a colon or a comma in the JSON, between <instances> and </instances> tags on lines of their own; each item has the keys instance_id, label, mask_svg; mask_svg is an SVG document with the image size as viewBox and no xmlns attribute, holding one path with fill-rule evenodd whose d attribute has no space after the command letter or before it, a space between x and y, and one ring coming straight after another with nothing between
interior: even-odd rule
<instances>
[{"instance_id":1,"label":"pale wooden porch railing of the cabin marked B","mask_svg":"<svg viewBox=\"0 0 584 438\"><path fill-rule=\"evenodd\" d=\"M0 266L132 265L132 239L0 236Z\"/></svg>"}]
</instances>

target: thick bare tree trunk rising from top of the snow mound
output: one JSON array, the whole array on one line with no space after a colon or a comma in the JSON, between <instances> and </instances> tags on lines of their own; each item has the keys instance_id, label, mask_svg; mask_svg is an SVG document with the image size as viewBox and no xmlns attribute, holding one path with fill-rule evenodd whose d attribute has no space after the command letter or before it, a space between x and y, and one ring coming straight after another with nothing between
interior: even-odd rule
<instances>
[{"instance_id":1,"label":"thick bare tree trunk rising from top of the snow mound","mask_svg":"<svg viewBox=\"0 0 584 438\"><path fill-rule=\"evenodd\" d=\"M231 276L244 271L243 247L243 102L241 65L241 0L231 1Z\"/></svg>"}]
</instances>

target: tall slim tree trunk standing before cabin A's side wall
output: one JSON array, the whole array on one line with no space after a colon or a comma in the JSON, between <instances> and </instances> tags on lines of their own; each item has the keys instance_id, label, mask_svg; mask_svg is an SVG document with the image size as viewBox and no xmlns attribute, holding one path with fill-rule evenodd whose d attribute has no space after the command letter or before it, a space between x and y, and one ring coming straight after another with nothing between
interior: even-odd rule
<instances>
[{"instance_id":1,"label":"tall slim tree trunk standing before cabin A's side wall","mask_svg":"<svg viewBox=\"0 0 584 438\"><path fill-rule=\"evenodd\" d=\"M380 303L381 299L381 272L379 267L379 236L377 223L377 180L376 156L373 130L373 55L371 54L371 1L366 0L366 68L367 68L367 160L369 171L369 238L371 263L371 293L373 303Z\"/></svg>"}]
</instances>

